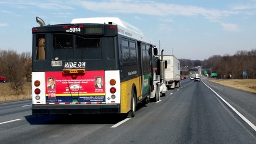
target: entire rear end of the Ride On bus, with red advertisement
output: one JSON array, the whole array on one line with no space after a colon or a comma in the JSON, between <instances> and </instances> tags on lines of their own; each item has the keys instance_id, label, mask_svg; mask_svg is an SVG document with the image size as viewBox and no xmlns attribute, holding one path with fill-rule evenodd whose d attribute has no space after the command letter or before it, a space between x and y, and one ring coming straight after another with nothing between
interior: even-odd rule
<instances>
[{"instance_id":1,"label":"entire rear end of the Ride On bus, with red advertisement","mask_svg":"<svg viewBox=\"0 0 256 144\"><path fill-rule=\"evenodd\" d=\"M32 28L32 114L122 113L116 25L39 24Z\"/></svg>"}]
</instances>

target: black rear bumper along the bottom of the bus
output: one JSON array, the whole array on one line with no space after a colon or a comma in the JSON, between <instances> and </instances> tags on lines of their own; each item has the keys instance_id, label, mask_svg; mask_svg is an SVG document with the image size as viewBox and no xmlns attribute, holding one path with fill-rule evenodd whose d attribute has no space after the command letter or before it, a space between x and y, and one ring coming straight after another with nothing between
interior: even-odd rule
<instances>
[{"instance_id":1,"label":"black rear bumper along the bottom of the bus","mask_svg":"<svg viewBox=\"0 0 256 144\"><path fill-rule=\"evenodd\" d=\"M121 113L120 104L32 105L32 115Z\"/></svg>"}]
</instances>

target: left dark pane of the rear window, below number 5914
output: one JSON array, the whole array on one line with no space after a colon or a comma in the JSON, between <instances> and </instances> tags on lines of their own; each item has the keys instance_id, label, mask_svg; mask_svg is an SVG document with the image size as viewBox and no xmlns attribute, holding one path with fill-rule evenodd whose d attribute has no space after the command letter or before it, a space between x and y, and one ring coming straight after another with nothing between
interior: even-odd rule
<instances>
[{"instance_id":1,"label":"left dark pane of the rear window, below number 5914","mask_svg":"<svg viewBox=\"0 0 256 144\"><path fill-rule=\"evenodd\" d=\"M53 47L54 49L66 49L73 47L73 36L66 34L54 34L53 35Z\"/></svg>"}]
</instances>

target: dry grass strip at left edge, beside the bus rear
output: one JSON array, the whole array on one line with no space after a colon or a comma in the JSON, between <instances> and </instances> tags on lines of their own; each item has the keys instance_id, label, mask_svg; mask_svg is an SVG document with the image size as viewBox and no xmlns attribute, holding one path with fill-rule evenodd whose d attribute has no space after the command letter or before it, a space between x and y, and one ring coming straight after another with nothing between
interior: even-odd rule
<instances>
[{"instance_id":1,"label":"dry grass strip at left edge, beside the bus rear","mask_svg":"<svg viewBox=\"0 0 256 144\"><path fill-rule=\"evenodd\" d=\"M22 94L14 95L14 91L10 88L9 83L0 84L0 101L22 100L31 98L31 82L27 82L23 86Z\"/></svg>"}]
</instances>

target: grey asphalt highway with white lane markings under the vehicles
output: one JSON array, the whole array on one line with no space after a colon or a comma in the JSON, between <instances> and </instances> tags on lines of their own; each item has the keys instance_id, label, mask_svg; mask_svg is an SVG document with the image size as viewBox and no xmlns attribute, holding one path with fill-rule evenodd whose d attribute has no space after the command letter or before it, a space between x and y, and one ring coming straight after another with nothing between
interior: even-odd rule
<instances>
[{"instance_id":1,"label":"grey asphalt highway with white lane markings under the vehicles","mask_svg":"<svg viewBox=\"0 0 256 144\"><path fill-rule=\"evenodd\" d=\"M134 118L33 116L31 100L0 104L0 143L256 143L256 94L182 80Z\"/></svg>"}]
</instances>

